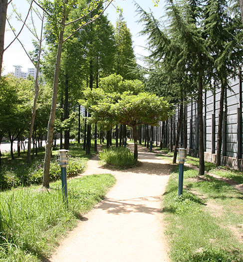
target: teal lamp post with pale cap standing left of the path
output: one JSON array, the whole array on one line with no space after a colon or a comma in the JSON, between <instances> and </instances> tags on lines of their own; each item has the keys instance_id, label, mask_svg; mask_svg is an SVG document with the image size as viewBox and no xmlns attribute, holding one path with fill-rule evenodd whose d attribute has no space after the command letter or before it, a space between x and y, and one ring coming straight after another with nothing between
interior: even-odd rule
<instances>
[{"instance_id":1,"label":"teal lamp post with pale cap standing left of the path","mask_svg":"<svg viewBox=\"0 0 243 262\"><path fill-rule=\"evenodd\" d=\"M66 155L66 152L68 150L66 149L61 149L59 150L59 161L60 161L60 166L61 166L61 188L62 188L62 197L63 197L63 202L68 206L67 202L67 164L68 164L68 158Z\"/></svg>"}]
</instances>

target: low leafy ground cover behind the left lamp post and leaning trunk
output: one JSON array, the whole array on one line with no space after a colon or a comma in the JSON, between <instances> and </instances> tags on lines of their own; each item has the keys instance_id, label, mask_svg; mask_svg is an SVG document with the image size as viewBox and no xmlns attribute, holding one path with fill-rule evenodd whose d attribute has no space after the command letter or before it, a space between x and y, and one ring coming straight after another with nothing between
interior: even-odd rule
<instances>
[{"instance_id":1,"label":"low leafy ground cover behind the left lamp post and leaning trunk","mask_svg":"<svg viewBox=\"0 0 243 262\"><path fill-rule=\"evenodd\" d=\"M91 155L86 155L82 150L82 145L71 143L68 151L69 164L67 166L67 177L83 173L86 168L86 162ZM60 179L60 165L57 156L58 147L54 147L50 163L50 181ZM31 184L40 184L43 178L44 167L44 148L39 150L38 155L34 156L31 164L27 164L26 153L21 152L20 156L15 153L15 159L11 160L10 153L2 155L2 165L0 166L0 189L7 189L17 186L29 186Z\"/></svg>"}]
</instances>

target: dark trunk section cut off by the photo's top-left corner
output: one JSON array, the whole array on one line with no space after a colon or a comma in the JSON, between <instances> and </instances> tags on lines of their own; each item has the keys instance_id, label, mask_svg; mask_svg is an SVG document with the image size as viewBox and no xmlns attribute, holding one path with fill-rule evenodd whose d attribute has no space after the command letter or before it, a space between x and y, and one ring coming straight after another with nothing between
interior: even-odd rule
<instances>
[{"instance_id":1,"label":"dark trunk section cut off by the photo's top-left corner","mask_svg":"<svg viewBox=\"0 0 243 262\"><path fill-rule=\"evenodd\" d=\"M4 52L4 33L7 14L7 2L8 0L0 0L0 79L2 68L2 57Z\"/></svg>"}]
</instances>

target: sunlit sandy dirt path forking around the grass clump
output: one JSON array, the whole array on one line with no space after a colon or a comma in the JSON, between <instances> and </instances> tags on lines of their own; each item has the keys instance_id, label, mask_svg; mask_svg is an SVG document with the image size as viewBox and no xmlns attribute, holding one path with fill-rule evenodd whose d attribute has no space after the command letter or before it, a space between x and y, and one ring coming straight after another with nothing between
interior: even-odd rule
<instances>
[{"instance_id":1,"label":"sunlit sandy dirt path forking around the grass clump","mask_svg":"<svg viewBox=\"0 0 243 262\"><path fill-rule=\"evenodd\" d=\"M104 169L98 157L83 175L111 173L116 185L85 215L56 250L50 262L169 262L161 196L170 165L139 146L138 167Z\"/></svg>"}]
</instances>

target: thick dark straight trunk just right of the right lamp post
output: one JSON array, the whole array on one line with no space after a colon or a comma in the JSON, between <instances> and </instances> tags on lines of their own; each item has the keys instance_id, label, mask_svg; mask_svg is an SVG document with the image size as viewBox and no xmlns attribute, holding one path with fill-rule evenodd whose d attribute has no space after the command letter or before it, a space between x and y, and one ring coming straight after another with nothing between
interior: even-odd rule
<instances>
[{"instance_id":1,"label":"thick dark straight trunk just right of the right lamp post","mask_svg":"<svg viewBox=\"0 0 243 262\"><path fill-rule=\"evenodd\" d=\"M199 78L198 78L198 126L199 126L199 175L204 175L204 122L203 122L203 57L199 56Z\"/></svg>"}]
</instances>

